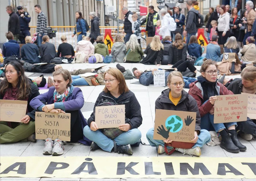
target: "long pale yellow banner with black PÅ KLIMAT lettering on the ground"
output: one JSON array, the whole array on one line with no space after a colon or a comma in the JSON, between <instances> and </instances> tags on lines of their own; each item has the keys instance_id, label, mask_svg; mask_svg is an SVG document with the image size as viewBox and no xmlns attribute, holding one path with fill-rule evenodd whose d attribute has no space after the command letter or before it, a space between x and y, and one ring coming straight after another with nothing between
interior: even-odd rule
<instances>
[{"instance_id":1,"label":"long pale yellow banner with black P\u00c5 KLIMAT lettering on the ground","mask_svg":"<svg viewBox=\"0 0 256 181\"><path fill-rule=\"evenodd\" d=\"M255 158L1 157L0 177L255 179Z\"/></svg>"}]
</instances>

